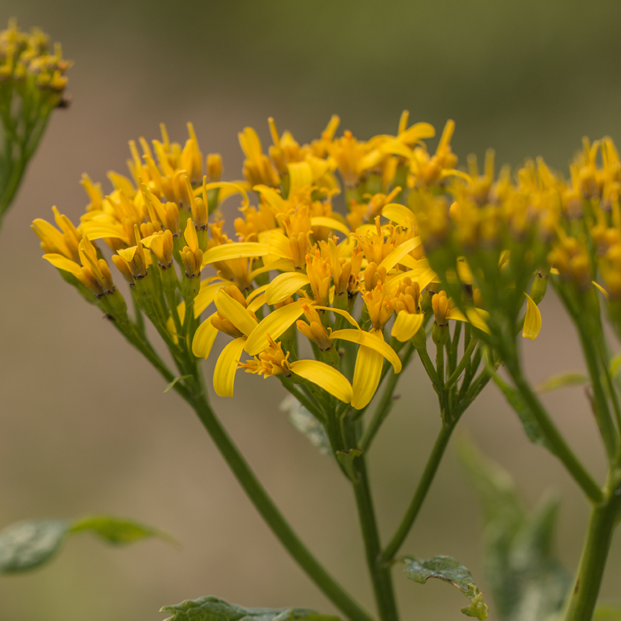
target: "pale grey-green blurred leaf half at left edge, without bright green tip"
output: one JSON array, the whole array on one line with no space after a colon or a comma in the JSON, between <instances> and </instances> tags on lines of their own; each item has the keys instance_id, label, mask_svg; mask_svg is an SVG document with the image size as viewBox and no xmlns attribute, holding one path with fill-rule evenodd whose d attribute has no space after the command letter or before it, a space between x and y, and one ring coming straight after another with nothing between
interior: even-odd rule
<instances>
[{"instance_id":1,"label":"pale grey-green blurred leaf half at left edge, without bright green tip","mask_svg":"<svg viewBox=\"0 0 621 621\"><path fill-rule=\"evenodd\" d=\"M16 573L43 565L60 550L67 520L23 520L0 532L0 572Z\"/></svg>"}]
</instances>

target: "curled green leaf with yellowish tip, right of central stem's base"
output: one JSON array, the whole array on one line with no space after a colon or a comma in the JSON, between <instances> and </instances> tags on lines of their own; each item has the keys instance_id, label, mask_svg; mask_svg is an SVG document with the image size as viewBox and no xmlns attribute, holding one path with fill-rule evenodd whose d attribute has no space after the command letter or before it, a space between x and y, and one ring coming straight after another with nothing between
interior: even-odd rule
<instances>
[{"instance_id":1,"label":"curled green leaf with yellowish tip, right of central stem's base","mask_svg":"<svg viewBox=\"0 0 621 621\"><path fill-rule=\"evenodd\" d=\"M451 583L471 602L471 605L462 608L461 612L468 617L487 619L489 611L483 602L483 593L479 592L468 568L452 556L439 555L427 560L407 556L403 562L407 578L419 584L426 583L429 578L439 578L439 580Z\"/></svg>"}]
</instances>

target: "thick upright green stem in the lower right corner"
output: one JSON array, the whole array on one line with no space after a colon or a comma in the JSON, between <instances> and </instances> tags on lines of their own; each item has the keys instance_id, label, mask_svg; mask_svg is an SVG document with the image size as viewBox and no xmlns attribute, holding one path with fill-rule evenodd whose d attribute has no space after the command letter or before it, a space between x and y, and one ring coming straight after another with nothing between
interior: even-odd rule
<instances>
[{"instance_id":1,"label":"thick upright green stem in the lower right corner","mask_svg":"<svg viewBox=\"0 0 621 621\"><path fill-rule=\"evenodd\" d=\"M621 488L615 491L620 492ZM620 503L621 496L613 492L612 498L591 511L576 582L566 606L565 621L590 621L593 618Z\"/></svg>"}]
</instances>

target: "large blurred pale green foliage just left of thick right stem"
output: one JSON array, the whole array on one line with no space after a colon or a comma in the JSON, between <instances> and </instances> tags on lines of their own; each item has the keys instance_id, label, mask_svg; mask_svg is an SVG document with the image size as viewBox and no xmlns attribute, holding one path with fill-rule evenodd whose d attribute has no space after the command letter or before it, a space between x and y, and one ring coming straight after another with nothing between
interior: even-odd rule
<instances>
[{"instance_id":1,"label":"large blurred pale green foliage just left of thick right stem","mask_svg":"<svg viewBox=\"0 0 621 621\"><path fill-rule=\"evenodd\" d=\"M544 621L560 612L571 581L552 551L558 502L524 510L510 476L462 442L460 457L485 521L485 576L501 621Z\"/></svg>"}]
</instances>

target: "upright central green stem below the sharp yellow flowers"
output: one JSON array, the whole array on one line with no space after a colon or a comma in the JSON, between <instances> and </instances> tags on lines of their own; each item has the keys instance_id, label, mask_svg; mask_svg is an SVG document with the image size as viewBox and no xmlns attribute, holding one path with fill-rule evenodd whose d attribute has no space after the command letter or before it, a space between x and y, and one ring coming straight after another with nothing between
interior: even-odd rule
<instances>
[{"instance_id":1,"label":"upright central green stem below the sharp yellow flowers","mask_svg":"<svg viewBox=\"0 0 621 621\"><path fill-rule=\"evenodd\" d=\"M355 429L351 419L346 419L345 429L348 435L348 445L356 446ZM382 621L398 621L397 601L395 591L392 588L392 576L390 566L385 566L380 562L382 546L378 524L375 519L375 509L371 498L368 476L366 471L366 461L364 455L353 460L355 477L352 480L353 493L356 496L356 506L358 507L358 518L364 541L367 566L371 581L373 582L373 592L375 601L378 605L378 612Z\"/></svg>"}]
</instances>

